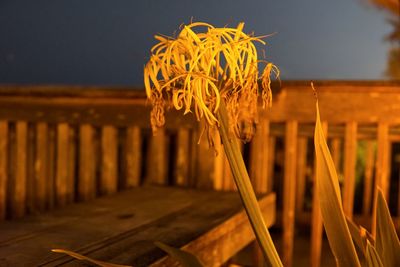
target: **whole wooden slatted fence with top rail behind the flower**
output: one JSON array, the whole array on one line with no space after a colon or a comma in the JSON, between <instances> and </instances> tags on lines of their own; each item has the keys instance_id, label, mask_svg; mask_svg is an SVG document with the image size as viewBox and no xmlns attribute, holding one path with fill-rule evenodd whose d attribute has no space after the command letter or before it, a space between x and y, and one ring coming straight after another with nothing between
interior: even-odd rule
<instances>
[{"instance_id":1,"label":"whole wooden slatted fence with top rail behind the flower","mask_svg":"<svg viewBox=\"0 0 400 267\"><path fill-rule=\"evenodd\" d=\"M315 83L321 118L342 177L345 213L371 227L375 185L400 214L391 175L400 141L400 84ZM0 87L0 218L20 218L146 183L235 190L224 153L215 156L190 116L167 113L151 134L142 92L74 86ZM281 200L285 266L295 226L311 225L311 262L319 266L322 220L312 194L315 98L308 83L284 82L261 112L243 155L257 192ZM216 139L218 140L218 139ZM223 150L220 142L216 147ZM344 178L343 178L344 177ZM397 217L396 217L397 218ZM395 218L396 225L397 219Z\"/></svg>"}]
</instances>

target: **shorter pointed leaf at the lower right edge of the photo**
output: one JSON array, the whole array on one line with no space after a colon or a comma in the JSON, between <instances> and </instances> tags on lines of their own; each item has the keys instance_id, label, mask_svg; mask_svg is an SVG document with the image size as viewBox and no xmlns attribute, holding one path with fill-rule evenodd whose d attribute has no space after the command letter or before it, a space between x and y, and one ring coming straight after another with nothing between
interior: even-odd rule
<instances>
[{"instance_id":1,"label":"shorter pointed leaf at the lower right edge of the photo","mask_svg":"<svg viewBox=\"0 0 400 267\"><path fill-rule=\"evenodd\" d=\"M385 267L400 266L400 243L381 190L376 201L376 251Z\"/></svg>"}]
</instances>

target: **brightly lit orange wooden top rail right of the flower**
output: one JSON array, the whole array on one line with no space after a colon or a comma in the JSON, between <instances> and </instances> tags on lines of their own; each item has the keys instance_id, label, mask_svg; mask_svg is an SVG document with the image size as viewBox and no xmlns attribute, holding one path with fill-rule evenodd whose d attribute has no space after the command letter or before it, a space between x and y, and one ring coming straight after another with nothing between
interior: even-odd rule
<instances>
[{"instance_id":1,"label":"brightly lit orange wooden top rail right of the flower","mask_svg":"<svg viewBox=\"0 0 400 267\"><path fill-rule=\"evenodd\" d=\"M331 123L400 123L400 83L314 82L321 118ZM271 121L315 121L315 97L309 83L283 82L275 94Z\"/></svg>"}]
</instances>

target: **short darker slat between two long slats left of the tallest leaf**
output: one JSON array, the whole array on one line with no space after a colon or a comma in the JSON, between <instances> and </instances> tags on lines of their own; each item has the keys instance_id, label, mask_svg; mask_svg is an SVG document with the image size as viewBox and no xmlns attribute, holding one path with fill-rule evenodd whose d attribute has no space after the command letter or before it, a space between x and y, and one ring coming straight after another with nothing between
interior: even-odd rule
<instances>
[{"instance_id":1,"label":"short darker slat between two long slats left of the tallest leaf","mask_svg":"<svg viewBox=\"0 0 400 267\"><path fill-rule=\"evenodd\" d=\"M304 208L307 174L307 137L299 137L297 141L297 192L296 213L300 214Z\"/></svg>"}]
</instances>

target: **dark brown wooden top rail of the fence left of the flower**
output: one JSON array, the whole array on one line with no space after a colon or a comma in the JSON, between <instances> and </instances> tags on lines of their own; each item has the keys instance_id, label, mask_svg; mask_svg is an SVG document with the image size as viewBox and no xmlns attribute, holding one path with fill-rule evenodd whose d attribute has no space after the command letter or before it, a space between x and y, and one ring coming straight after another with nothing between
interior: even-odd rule
<instances>
[{"instance_id":1,"label":"dark brown wooden top rail of the fence left of the flower","mask_svg":"<svg viewBox=\"0 0 400 267\"><path fill-rule=\"evenodd\" d=\"M0 87L0 120L120 127L136 124L150 128L150 109L143 91L74 86ZM169 128L195 125L192 116L177 114L166 113Z\"/></svg>"}]
</instances>

